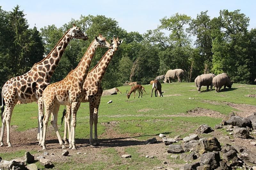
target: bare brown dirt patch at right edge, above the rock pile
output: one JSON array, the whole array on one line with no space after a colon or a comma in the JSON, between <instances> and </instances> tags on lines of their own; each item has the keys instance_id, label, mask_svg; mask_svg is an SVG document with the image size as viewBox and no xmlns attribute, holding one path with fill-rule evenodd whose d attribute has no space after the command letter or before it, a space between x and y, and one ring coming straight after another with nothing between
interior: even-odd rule
<instances>
[{"instance_id":1,"label":"bare brown dirt patch at right edge, above the rock pile","mask_svg":"<svg viewBox=\"0 0 256 170\"><path fill-rule=\"evenodd\" d=\"M248 104L235 104L235 103L230 103L230 102L223 102L227 104L230 107L233 107L237 110L240 111L234 111L237 116L241 117L247 117L251 115L253 112L256 112L256 106L253 105L248 105Z\"/></svg>"}]
</instances>

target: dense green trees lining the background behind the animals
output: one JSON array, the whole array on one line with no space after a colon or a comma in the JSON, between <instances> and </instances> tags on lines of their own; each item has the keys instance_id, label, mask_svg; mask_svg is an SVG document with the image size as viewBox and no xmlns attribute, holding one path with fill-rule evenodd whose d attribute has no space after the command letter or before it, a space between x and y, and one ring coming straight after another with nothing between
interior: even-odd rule
<instances>
[{"instance_id":1,"label":"dense green trees lining the background behind the animals","mask_svg":"<svg viewBox=\"0 0 256 170\"><path fill-rule=\"evenodd\" d=\"M24 11L19 6L12 11L0 7L0 90L14 76L26 73L34 63L43 59L62 35L75 23L89 40L72 40L55 70L51 82L56 82L74 69L89 44L99 33L110 40L123 39L103 78L103 89L122 85L130 79L133 62L139 69L132 81L148 84L169 69L185 70L185 81L193 81L202 73L228 73L236 83L252 84L256 77L256 29L248 30L249 18L240 10L220 11L210 18L207 11L196 18L185 14L160 18L157 28L144 34L127 32L113 18L103 15L72 19L60 28L45 26L40 31L29 28ZM191 38L192 37L192 38ZM98 48L91 68L107 51Z\"/></svg>"}]
</instances>

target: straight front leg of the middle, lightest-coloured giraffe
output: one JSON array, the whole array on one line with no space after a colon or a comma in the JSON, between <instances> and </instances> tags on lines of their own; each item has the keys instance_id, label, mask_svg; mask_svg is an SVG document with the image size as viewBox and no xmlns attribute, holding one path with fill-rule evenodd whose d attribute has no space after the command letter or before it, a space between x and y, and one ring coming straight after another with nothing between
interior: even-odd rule
<instances>
[{"instance_id":1,"label":"straight front leg of the middle, lightest-coloured giraffe","mask_svg":"<svg viewBox=\"0 0 256 170\"><path fill-rule=\"evenodd\" d=\"M71 113L72 113L72 121L71 121L71 129L72 129L72 150L77 150L76 148L76 141L75 141L75 136L76 136L76 113L78 108L80 107L80 102L72 102L71 105Z\"/></svg>"}]
</instances>

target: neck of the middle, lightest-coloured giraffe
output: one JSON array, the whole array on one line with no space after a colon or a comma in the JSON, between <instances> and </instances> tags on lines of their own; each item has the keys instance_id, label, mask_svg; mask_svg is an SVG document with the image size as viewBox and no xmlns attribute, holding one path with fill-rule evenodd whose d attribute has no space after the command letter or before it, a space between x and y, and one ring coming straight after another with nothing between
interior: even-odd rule
<instances>
[{"instance_id":1,"label":"neck of the middle, lightest-coloured giraffe","mask_svg":"<svg viewBox=\"0 0 256 170\"><path fill-rule=\"evenodd\" d=\"M82 85L84 84L85 78L88 74L92 57L94 56L96 49L98 48L97 41L94 40L90 44L90 46L87 48L87 51L85 52L84 56L82 57L81 61L78 63L77 67L73 70L74 74L78 78L79 82L82 82Z\"/></svg>"}]
</instances>

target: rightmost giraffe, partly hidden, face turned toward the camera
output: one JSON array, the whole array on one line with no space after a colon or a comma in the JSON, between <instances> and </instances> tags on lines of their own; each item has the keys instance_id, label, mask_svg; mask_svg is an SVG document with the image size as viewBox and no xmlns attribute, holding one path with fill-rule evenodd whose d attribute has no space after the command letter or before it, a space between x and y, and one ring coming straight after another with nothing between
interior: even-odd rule
<instances>
[{"instance_id":1,"label":"rightmost giraffe, partly hidden, face turned toward the camera","mask_svg":"<svg viewBox=\"0 0 256 170\"><path fill-rule=\"evenodd\" d=\"M98 142L98 135L97 135L97 123L98 123L98 108L100 105L100 98L102 95L102 87L101 87L101 80L108 68L108 64L111 61L113 55L118 50L119 45L123 42L123 40L119 40L119 37L113 40L112 42L112 49L108 49L108 51L101 57L100 61L97 65L88 73L88 76L84 82L84 99L83 103L90 102L90 138L89 142L90 145L93 146L93 139L92 139L92 125L94 122L94 140L96 145L99 145ZM65 122L65 129L64 129L64 138L65 144L67 144L67 130L70 134L69 122L70 122L70 115L71 115L71 105L67 106L67 113L63 115L64 122ZM63 119L62 117L62 119ZM67 129L68 127L68 129ZM71 142L71 138L69 135L69 146Z\"/></svg>"}]
</instances>

